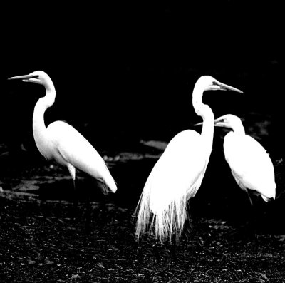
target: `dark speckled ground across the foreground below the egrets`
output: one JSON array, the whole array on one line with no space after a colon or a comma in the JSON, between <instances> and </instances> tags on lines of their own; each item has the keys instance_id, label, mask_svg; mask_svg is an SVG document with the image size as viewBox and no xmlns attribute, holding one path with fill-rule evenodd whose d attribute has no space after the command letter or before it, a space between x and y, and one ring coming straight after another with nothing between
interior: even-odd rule
<instances>
[{"instance_id":1,"label":"dark speckled ground across the foreground below the egrets","mask_svg":"<svg viewBox=\"0 0 285 283\"><path fill-rule=\"evenodd\" d=\"M1 282L284 282L285 236L199 219L179 245L135 239L133 210L1 197Z\"/></svg>"}]
</instances>

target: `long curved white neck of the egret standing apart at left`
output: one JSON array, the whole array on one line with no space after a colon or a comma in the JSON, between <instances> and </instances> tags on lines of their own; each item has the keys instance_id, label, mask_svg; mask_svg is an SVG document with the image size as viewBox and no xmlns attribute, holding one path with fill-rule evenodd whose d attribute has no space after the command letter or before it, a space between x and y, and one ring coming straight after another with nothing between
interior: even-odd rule
<instances>
[{"instance_id":1,"label":"long curved white neck of the egret standing apart at left","mask_svg":"<svg viewBox=\"0 0 285 283\"><path fill-rule=\"evenodd\" d=\"M44 113L48 107L51 107L56 99L56 89L53 86L53 83L45 85L46 96L39 98L36 106L33 110L33 138L35 139L38 150L42 155L46 156L43 153L43 148L41 145L46 143L46 125L44 123Z\"/></svg>"}]
</instances>

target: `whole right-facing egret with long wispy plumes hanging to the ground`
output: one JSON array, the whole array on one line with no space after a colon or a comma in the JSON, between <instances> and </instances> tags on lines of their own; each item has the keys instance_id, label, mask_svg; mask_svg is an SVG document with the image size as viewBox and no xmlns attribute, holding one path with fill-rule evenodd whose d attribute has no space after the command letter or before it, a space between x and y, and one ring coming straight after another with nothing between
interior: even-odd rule
<instances>
[{"instance_id":1,"label":"whole right-facing egret with long wispy plumes hanging to the ground","mask_svg":"<svg viewBox=\"0 0 285 283\"><path fill-rule=\"evenodd\" d=\"M202 133L184 130L175 135L152 168L135 209L136 235L154 232L164 242L182 233L187 216L187 200L194 197L204 177L212 151L214 114L202 102L204 91L239 91L212 76L202 76L195 84L192 105L202 117Z\"/></svg>"}]
</instances>

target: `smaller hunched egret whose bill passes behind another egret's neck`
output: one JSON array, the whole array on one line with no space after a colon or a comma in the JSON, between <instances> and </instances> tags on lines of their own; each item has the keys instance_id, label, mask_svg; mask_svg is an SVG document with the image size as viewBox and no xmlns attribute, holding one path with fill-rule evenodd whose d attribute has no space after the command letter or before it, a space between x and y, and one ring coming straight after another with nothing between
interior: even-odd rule
<instances>
[{"instance_id":1,"label":"smaller hunched egret whose bill passes behind another egret's neck","mask_svg":"<svg viewBox=\"0 0 285 283\"><path fill-rule=\"evenodd\" d=\"M262 145L245 134L241 119L227 114L214 120L214 125L232 129L224 137L224 157L239 187L246 192L257 192L266 202L274 199L276 184L272 161ZM250 196L249 200L252 204Z\"/></svg>"}]
</instances>

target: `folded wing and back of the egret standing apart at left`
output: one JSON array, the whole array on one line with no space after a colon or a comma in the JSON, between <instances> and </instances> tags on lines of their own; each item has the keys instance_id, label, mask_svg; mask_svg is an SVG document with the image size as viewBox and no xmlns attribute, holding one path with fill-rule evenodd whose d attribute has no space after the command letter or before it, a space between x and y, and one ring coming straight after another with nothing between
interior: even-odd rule
<instances>
[{"instance_id":1,"label":"folded wing and back of the egret standing apart at left","mask_svg":"<svg viewBox=\"0 0 285 283\"><path fill-rule=\"evenodd\" d=\"M97 150L71 125L56 121L48 125L49 147L56 152L53 158L58 163L67 163L95 177L115 192L115 180Z\"/></svg>"}]
</instances>

